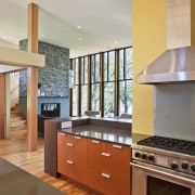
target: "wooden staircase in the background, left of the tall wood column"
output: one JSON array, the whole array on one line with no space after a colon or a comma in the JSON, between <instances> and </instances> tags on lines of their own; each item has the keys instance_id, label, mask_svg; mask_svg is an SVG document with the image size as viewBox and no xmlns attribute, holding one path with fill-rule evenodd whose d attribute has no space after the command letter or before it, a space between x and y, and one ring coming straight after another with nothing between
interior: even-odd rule
<instances>
[{"instance_id":1,"label":"wooden staircase in the background, left of the tall wood column","mask_svg":"<svg viewBox=\"0 0 195 195\"><path fill-rule=\"evenodd\" d=\"M20 112L18 104L15 104L15 106L11 107L10 127L11 130L26 129L26 118L23 113Z\"/></svg>"}]
</instances>

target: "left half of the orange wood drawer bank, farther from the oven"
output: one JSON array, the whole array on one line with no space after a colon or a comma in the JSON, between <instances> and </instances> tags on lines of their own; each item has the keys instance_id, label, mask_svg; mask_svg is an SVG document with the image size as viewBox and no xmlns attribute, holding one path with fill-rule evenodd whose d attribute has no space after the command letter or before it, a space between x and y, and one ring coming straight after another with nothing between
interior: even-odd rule
<instances>
[{"instance_id":1,"label":"left half of the orange wood drawer bank, farther from the oven","mask_svg":"<svg viewBox=\"0 0 195 195\"><path fill-rule=\"evenodd\" d=\"M57 172L81 183L87 182L87 140L57 133Z\"/></svg>"}]
</instances>

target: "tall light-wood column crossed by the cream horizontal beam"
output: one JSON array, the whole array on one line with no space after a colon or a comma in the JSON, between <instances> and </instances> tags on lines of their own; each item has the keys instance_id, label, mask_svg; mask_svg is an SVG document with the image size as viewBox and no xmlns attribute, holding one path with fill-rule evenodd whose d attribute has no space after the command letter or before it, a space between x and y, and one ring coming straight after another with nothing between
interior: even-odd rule
<instances>
[{"instance_id":1,"label":"tall light-wood column crossed by the cream horizontal beam","mask_svg":"<svg viewBox=\"0 0 195 195\"><path fill-rule=\"evenodd\" d=\"M38 5L28 4L28 52L38 53ZM27 150L37 150L38 68L27 68Z\"/></svg>"}]
</instances>

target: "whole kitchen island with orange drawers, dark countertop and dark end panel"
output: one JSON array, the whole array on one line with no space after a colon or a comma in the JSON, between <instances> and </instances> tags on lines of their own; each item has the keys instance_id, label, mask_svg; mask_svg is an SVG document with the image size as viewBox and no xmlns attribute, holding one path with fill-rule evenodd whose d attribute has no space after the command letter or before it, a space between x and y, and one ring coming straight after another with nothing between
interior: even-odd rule
<instances>
[{"instance_id":1,"label":"whole kitchen island with orange drawers, dark countertop and dark end panel","mask_svg":"<svg viewBox=\"0 0 195 195\"><path fill-rule=\"evenodd\" d=\"M47 173L107 195L130 194L131 119L52 119L44 127Z\"/></svg>"}]
</instances>

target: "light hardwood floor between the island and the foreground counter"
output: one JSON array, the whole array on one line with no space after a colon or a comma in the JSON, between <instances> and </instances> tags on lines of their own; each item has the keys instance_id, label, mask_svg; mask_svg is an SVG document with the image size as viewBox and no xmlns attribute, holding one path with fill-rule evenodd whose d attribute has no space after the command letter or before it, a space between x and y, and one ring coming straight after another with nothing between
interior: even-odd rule
<instances>
[{"instance_id":1,"label":"light hardwood floor between the island and the foreground counter","mask_svg":"<svg viewBox=\"0 0 195 195\"><path fill-rule=\"evenodd\" d=\"M96 193L73 181L53 178L43 171L43 139L38 140L38 151L26 151L26 130L12 130L10 140L0 140L0 157L46 181L68 195L94 195Z\"/></svg>"}]
</instances>

